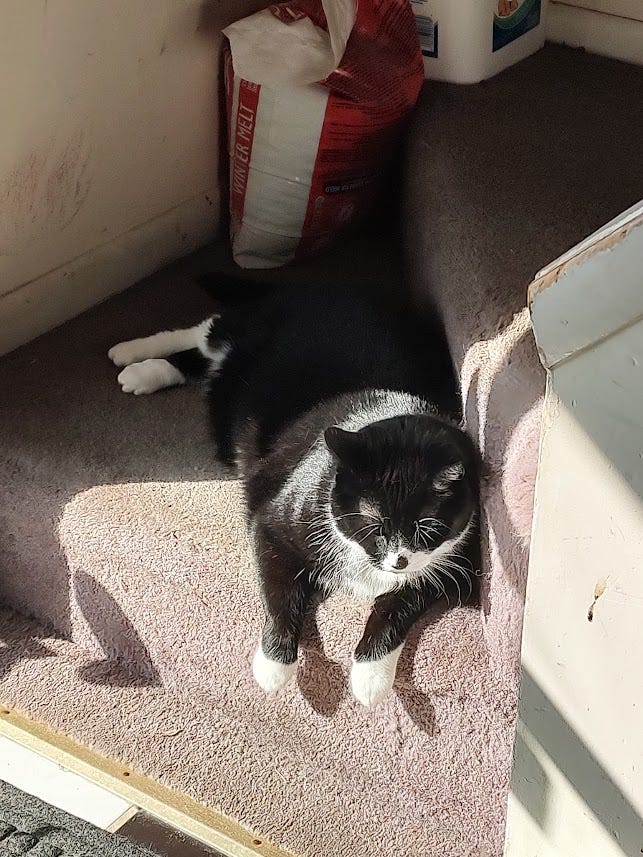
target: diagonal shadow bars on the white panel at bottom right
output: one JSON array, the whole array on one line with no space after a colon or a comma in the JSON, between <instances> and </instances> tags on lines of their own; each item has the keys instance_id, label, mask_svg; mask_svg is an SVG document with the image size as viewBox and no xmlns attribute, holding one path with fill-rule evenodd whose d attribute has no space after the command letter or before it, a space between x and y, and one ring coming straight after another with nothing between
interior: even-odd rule
<instances>
[{"instance_id":1,"label":"diagonal shadow bars on the white panel at bottom right","mask_svg":"<svg viewBox=\"0 0 643 857\"><path fill-rule=\"evenodd\" d=\"M546 831L549 784L543 766L527 746L527 742L532 746L535 742L565 776L623 854L640 854L643 849L643 819L527 670L523 670L520 695L516 755L523 761L521 770L524 775L514 776L512 789L515 797L538 826Z\"/></svg>"}]
</instances>

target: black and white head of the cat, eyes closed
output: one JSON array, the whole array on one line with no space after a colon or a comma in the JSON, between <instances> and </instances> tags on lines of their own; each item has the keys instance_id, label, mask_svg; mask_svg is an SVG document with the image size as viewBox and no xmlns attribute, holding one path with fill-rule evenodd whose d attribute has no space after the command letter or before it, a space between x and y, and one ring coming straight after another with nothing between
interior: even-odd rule
<instances>
[{"instance_id":1,"label":"black and white head of the cat, eyes closed","mask_svg":"<svg viewBox=\"0 0 643 857\"><path fill-rule=\"evenodd\" d=\"M337 462L337 529L382 570L417 574L471 529L478 460L461 430L423 414L355 432L333 426L325 440Z\"/></svg>"}]
</instances>

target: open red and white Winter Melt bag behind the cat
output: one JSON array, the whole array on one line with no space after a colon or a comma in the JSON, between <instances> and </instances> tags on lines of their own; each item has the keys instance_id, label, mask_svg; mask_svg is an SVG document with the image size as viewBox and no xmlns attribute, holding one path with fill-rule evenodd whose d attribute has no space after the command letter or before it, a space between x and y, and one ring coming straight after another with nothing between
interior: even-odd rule
<instances>
[{"instance_id":1,"label":"open red and white Winter Melt bag behind the cat","mask_svg":"<svg viewBox=\"0 0 643 857\"><path fill-rule=\"evenodd\" d=\"M224 30L235 261L274 268L372 210L424 79L408 0L293 0Z\"/></svg>"}]
</instances>

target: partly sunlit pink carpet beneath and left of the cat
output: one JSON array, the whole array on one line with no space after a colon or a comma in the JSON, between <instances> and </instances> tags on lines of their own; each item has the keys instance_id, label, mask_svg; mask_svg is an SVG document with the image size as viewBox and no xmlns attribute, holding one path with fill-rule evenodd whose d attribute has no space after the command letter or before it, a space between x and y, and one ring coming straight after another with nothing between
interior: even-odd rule
<instances>
[{"instance_id":1,"label":"partly sunlit pink carpet beneath and left of the cat","mask_svg":"<svg viewBox=\"0 0 643 857\"><path fill-rule=\"evenodd\" d=\"M348 687L350 600L310 623L292 686L254 684L241 497L199 391L127 396L105 357L208 309L175 269L3 359L0 597L68 641L5 614L0 699L296 854L496 857L515 693L478 611L429 617L373 711Z\"/></svg>"}]
</instances>

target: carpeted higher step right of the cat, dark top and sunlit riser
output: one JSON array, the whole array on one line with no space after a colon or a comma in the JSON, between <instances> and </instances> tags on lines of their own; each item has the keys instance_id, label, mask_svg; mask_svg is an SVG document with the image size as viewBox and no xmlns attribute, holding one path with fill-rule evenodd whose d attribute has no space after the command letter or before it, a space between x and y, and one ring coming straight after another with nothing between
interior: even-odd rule
<instances>
[{"instance_id":1,"label":"carpeted higher step right of the cat, dark top and sunlit riser","mask_svg":"<svg viewBox=\"0 0 643 857\"><path fill-rule=\"evenodd\" d=\"M444 318L484 452L484 634L515 687L544 376L536 272L643 198L643 68L547 45L477 86L427 86L406 159L405 255Z\"/></svg>"}]
</instances>

